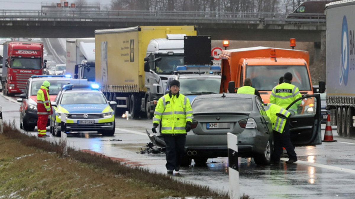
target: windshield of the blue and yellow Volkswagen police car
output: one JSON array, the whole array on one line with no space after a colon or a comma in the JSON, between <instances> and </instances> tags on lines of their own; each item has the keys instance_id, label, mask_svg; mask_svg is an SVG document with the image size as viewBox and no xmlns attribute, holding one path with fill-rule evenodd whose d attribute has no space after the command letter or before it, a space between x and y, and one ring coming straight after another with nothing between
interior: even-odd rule
<instances>
[{"instance_id":1,"label":"windshield of the blue and yellow Volkswagen police car","mask_svg":"<svg viewBox=\"0 0 355 199\"><path fill-rule=\"evenodd\" d=\"M64 93L60 104L105 104L106 99L99 92Z\"/></svg>"}]
</instances>

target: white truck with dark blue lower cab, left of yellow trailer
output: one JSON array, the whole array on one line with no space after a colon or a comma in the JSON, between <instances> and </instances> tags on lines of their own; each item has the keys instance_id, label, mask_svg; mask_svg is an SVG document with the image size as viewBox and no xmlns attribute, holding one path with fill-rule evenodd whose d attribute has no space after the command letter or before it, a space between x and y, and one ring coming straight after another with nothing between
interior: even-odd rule
<instances>
[{"instance_id":1,"label":"white truck with dark blue lower cab, left of yellow trailer","mask_svg":"<svg viewBox=\"0 0 355 199\"><path fill-rule=\"evenodd\" d=\"M66 74L95 81L95 38L66 39Z\"/></svg>"}]
</instances>

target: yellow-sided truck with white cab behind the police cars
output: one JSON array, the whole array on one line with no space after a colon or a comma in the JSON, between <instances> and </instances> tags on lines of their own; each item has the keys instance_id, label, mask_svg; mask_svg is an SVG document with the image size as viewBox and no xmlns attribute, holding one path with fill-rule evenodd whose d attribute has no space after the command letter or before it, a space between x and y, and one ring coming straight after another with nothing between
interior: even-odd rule
<instances>
[{"instance_id":1,"label":"yellow-sided truck with white cab behind the police cars","mask_svg":"<svg viewBox=\"0 0 355 199\"><path fill-rule=\"evenodd\" d=\"M108 100L116 100L116 115L129 110L132 118L152 118L168 76L184 65L185 35L196 36L196 27L95 30L95 80Z\"/></svg>"}]
</instances>

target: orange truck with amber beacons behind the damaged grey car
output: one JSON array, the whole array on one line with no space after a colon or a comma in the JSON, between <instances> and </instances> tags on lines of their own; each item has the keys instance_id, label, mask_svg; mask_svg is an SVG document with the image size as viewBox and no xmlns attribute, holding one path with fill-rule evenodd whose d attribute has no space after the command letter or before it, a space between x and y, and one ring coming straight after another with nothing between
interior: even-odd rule
<instances>
[{"instance_id":1,"label":"orange truck with amber beacons behind the damaged grey car","mask_svg":"<svg viewBox=\"0 0 355 199\"><path fill-rule=\"evenodd\" d=\"M295 46L295 41L291 42L291 46ZM318 92L318 88L312 87L308 51L258 46L223 50L220 58L221 93L233 93L243 86L245 78L251 78L252 86L260 92L263 102L269 103L272 89L286 72L292 73L292 84L299 88L302 95Z\"/></svg>"}]
</instances>

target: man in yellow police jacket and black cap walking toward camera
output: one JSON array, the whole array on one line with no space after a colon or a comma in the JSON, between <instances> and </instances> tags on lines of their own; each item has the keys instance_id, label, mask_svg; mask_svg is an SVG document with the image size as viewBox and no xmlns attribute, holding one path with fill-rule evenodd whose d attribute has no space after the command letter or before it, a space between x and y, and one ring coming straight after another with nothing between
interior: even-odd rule
<instances>
[{"instance_id":1,"label":"man in yellow police jacket and black cap walking toward camera","mask_svg":"<svg viewBox=\"0 0 355 199\"><path fill-rule=\"evenodd\" d=\"M191 130L192 108L189 98L179 93L180 82L170 82L170 91L158 100L153 118L154 133L161 124L161 133L166 143L166 164L168 174L179 171L185 154L186 133Z\"/></svg>"}]
</instances>

